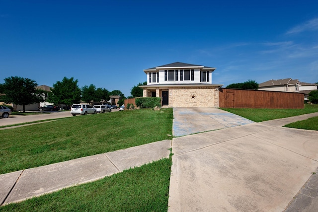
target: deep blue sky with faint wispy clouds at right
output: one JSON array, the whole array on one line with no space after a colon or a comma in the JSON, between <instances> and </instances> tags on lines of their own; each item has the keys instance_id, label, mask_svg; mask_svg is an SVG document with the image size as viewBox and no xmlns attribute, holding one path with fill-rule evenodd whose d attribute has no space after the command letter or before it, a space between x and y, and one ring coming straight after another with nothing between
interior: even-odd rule
<instances>
[{"instance_id":1,"label":"deep blue sky with faint wispy clouds at right","mask_svg":"<svg viewBox=\"0 0 318 212\"><path fill-rule=\"evenodd\" d=\"M212 83L318 81L317 0L0 0L0 83L64 76L125 96L144 69L217 68Z\"/></svg>"}]
</instances>

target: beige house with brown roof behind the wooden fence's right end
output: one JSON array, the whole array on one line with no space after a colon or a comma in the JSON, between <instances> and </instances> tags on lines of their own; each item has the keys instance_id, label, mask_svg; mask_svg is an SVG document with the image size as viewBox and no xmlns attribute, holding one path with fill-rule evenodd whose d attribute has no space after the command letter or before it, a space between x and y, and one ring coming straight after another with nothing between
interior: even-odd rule
<instances>
[{"instance_id":1,"label":"beige house with brown roof behind the wooden fence's right end","mask_svg":"<svg viewBox=\"0 0 318 212\"><path fill-rule=\"evenodd\" d=\"M258 85L258 90L299 92L302 85L298 79L271 79Z\"/></svg>"}]
</instances>

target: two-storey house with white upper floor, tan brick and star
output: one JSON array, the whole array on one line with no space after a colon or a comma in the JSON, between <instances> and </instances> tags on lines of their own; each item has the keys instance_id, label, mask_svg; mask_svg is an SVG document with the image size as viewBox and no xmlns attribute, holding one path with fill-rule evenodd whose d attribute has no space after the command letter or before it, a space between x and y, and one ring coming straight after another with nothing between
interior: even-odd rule
<instances>
[{"instance_id":1,"label":"two-storey house with white upper floor, tan brick and star","mask_svg":"<svg viewBox=\"0 0 318 212\"><path fill-rule=\"evenodd\" d=\"M212 84L216 68L200 65L172 63L146 69L147 85L144 97L160 97L167 107L219 107L219 87Z\"/></svg>"}]
</instances>

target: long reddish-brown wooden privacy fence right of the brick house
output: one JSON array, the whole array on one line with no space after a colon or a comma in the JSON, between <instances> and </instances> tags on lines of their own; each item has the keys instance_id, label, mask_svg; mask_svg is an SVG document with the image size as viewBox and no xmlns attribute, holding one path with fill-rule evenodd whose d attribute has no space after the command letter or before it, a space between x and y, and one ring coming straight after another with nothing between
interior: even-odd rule
<instances>
[{"instance_id":1,"label":"long reddish-brown wooden privacy fence right of the brick house","mask_svg":"<svg viewBox=\"0 0 318 212\"><path fill-rule=\"evenodd\" d=\"M303 109L304 94L219 88L219 107Z\"/></svg>"}]
</instances>

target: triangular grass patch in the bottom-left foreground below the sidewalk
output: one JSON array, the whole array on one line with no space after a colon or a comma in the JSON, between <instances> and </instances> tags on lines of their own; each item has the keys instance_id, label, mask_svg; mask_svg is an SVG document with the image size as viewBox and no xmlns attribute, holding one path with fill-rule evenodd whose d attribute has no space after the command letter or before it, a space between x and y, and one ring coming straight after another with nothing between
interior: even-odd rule
<instances>
[{"instance_id":1,"label":"triangular grass patch in the bottom-left foreground below the sidewalk","mask_svg":"<svg viewBox=\"0 0 318 212\"><path fill-rule=\"evenodd\" d=\"M92 183L9 204L0 207L0 212L166 212L170 170L171 157Z\"/></svg>"}]
</instances>

